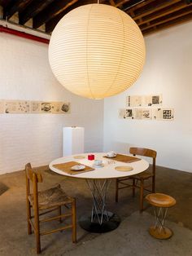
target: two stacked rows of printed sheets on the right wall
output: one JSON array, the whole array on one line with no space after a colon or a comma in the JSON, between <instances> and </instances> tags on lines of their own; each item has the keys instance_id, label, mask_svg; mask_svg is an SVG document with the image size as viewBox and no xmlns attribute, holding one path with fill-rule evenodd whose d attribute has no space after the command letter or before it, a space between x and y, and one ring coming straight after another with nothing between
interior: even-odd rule
<instances>
[{"instance_id":1,"label":"two stacked rows of printed sheets on the right wall","mask_svg":"<svg viewBox=\"0 0 192 256\"><path fill-rule=\"evenodd\" d=\"M124 119L173 120L174 109L162 108L162 104L162 95L129 95L126 99L127 108L120 109L119 117Z\"/></svg>"}]
</instances>

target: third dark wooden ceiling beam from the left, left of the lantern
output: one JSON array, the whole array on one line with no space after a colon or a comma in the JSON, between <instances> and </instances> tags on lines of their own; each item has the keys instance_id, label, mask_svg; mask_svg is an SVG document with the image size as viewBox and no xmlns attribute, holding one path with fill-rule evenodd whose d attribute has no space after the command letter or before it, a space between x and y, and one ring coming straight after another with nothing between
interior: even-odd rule
<instances>
[{"instance_id":1,"label":"third dark wooden ceiling beam from the left, left of the lantern","mask_svg":"<svg viewBox=\"0 0 192 256\"><path fill-rule=\"evenodd\" d=\"M46 8L45 11L42 11L36 17L34 17L33 29L37 29L41 26L41 24L44 24L51 19L54 19L57 15L68 9L68 7L71 7L76 2L78 2L78 0L71 0L68 2L56 0L55 2L53 2L53 4L51 4L49 8ZM81 5L81 3L79 5Z\"/></svg>"}]
</instances>

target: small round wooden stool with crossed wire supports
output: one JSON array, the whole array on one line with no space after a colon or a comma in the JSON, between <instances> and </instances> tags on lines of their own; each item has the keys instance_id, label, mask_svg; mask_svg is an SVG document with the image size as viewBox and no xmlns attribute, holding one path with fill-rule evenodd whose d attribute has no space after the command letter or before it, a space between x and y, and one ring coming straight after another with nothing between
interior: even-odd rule
<instances>
[{"instance_id":1,"label":"small round wooden stool with crossed wire supports","mask_svg":"<svg viewBox=\"0 0 192 256\"><path fill-rule=\"evenodd\" d=\"M161 193L152 193L146 196L146 201L154 206L155 226L150 227L151 236L158 239L168 239L172 236L172 230L164 227L165 218L168 208L176 204L176 200L172 196Z\"/></svg>"}]
</instances>

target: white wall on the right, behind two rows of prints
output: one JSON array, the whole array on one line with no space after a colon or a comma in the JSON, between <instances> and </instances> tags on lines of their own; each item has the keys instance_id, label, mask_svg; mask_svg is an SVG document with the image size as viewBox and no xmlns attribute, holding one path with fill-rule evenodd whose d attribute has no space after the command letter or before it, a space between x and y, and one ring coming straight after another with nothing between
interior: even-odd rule
<instances>
[{"instance_id":1,"label":"white wall on the right, behind two rows of prints","mask_svg":"<svg viewBox=\"0 0 192 256\"><path fill-rule=\"evenodd\" d=\"M146 37L142 76L129 90L105 99L105 151L128 152L129 146L154 148L157 165L192 173L191 32L192 21ZM175 109L174 121L118 118L127 95L153 94L163 94L163 106Z\"/></svg>"}]
</instances>

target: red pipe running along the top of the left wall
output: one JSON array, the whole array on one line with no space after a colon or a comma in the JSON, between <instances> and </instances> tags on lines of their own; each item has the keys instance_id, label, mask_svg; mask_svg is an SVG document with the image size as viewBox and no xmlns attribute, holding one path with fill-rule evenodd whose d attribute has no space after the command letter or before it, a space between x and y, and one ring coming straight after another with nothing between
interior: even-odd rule
<instances>
[{"instance_id":1,"label":"red pipe running along the top of the left wall","mask_svg":"<svg viewBox=\"0 0 192 256\"><path fill-rule=\"evenodd\" d=\"M37 36L34 36L30 33L24 33L15 29L10 29L7 27L3 27L2 25L0 25L0 32L4 32L4 33L10 33L12 35L18 36L20 38L27 38L27 39L31 39L33 41L37 41L37 42L43 42L43 43L47 43L49 44L50 40L46 39L46 38L40 38Z\"/></svg>"}]
</instances>

